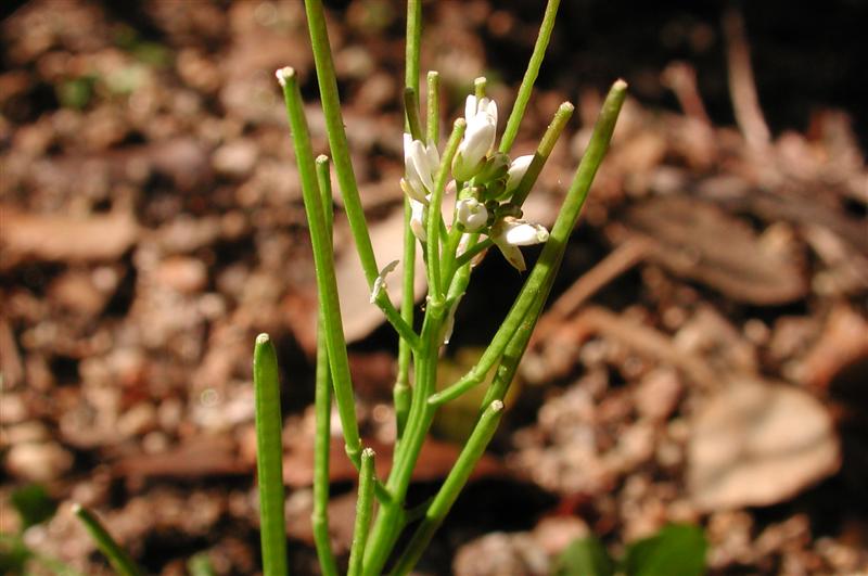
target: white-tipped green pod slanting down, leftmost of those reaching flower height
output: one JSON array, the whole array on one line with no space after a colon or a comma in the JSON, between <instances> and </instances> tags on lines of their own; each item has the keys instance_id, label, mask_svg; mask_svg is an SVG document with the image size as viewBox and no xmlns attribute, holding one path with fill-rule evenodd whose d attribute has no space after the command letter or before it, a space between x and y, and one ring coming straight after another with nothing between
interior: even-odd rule
<instances>
[{"instance_id":1,"label":"white-tipped green pod slanting down, leftmost of those reaching flower height","mask_svg":"<svg viewBox=\"0 0 868 576\"><path fill-rule=\"evenodd\" d=\"M302 194L310 230L310 243L314 247L314 266L317 273L320 309L323 311L323 332L329 350L334 385L334 397L337 412L346 440L346 452L349 459L360 464L361 439L356 421L356 400L353 395L353 382L349 375L349 361L346 354L344 328L341 321L341 303L337 298L337 280L334 276L334 255L331 249L331 236L326 223L319 185L317 184L314 152L310 146L310 133L304 114L302 94L295 72L283 68L278 72L282 80L283 98L286 102L286 114L290 119L295 162L302 180Z\"/></svg>"}]
</instances>

